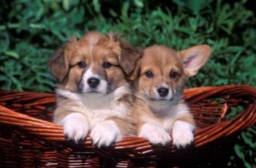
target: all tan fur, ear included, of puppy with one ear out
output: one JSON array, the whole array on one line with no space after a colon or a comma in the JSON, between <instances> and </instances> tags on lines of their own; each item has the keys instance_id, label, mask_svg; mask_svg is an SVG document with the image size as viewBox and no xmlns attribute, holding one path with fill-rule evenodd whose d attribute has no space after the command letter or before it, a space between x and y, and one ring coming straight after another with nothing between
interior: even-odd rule
<instances>
[{"instance_id":1,"label":"all tan fur, ear included, of puppy with one ear out","mask_svg":"<svg viewBox=\"0 0 256 168\"><path fill-rule=\"evenodd\" d=\"M173 123L175 121L185 121L195 125L195 121L190 113L179 115L179 111L171 108L175 105L184 105L182 100L185 82L190 76L194 76L197 71L206 63L210 55L210 47L200 45L181 52L163 46L152 46L144 49L143 57L137 62L135 71L132 72L130 79L134 80L135 95L135 115L138 117L138 134L143 124L147 122L162 124L168 115L173 113ZM200 59L194 59L199 55ZM151 71L154 77L149 79L145 76L146 71ZM170 79L170 71L175 71L177 77ZM145 99L156 97L154 90L167 84L173 90L173 100L170 100L168 113L154 111ZM171 130L165 129L165 130ZM171 132L168 132L169 134Z\"/></svg>"}]
</instances>

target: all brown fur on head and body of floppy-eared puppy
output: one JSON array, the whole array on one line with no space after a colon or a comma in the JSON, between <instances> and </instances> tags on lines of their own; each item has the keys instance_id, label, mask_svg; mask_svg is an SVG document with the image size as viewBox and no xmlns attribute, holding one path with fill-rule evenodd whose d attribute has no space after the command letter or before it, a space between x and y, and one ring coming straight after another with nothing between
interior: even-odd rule
<instances>
[{"instance_id":1,"label":"all brown fur on head and body of floppy-eared puppy","mask_svg":"<svg viewBox=\"0 0 256 168\"><path fill-rule=\"evenodd\" d=\"M134 70L137 60L141 57L141 50L131 47L124 39L121 39L115 33L104 35L98 32L90 32L81 39L72 39L65 42L56 53L50 57L50 72L56 77L57 87L69 92L79 93L79 82L82 76L88 70L105 79L110 84L110 88L115 90L125 84L129 84L127 76ZM86 68L80 68L78 63L84 61ZM102 64L109 62L113 66L103 68ZM116 100L117 104L122 103L128 109L134 104L132 94L127 94ZM71 111L71 107L76 107L76 100L69 97L58 96L58 108L54 113L54 121L61 122L65 116L70 113L80 113L79 111ZM86 110L83 111L86 113ZM135 124L131 116L121 119L116 116L109 117L120 127L123 135L135 135Z\"/></svg>"}]
</instances>

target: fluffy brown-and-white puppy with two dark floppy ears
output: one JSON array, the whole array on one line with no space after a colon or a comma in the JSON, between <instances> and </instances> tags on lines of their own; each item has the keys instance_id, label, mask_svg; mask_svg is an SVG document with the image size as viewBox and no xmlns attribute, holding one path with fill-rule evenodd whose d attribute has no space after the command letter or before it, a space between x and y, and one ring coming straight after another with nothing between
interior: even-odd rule
<instances>
[{"instance_id":1,"label":"fluffy brown-and-white puppy with two dark floppy ears","mask_svg":"<svg viewBox=\"0 0 256 168\"><path fill-rule=\"evenodd\" d=\"M89 131L98 147L135 135L131 118L134 97L127 76L141 51L118 35L90 32L75 36L50 57L57 79L57 108L53 121L69 139L83 140Z\"/></svg>"}]
</instances>

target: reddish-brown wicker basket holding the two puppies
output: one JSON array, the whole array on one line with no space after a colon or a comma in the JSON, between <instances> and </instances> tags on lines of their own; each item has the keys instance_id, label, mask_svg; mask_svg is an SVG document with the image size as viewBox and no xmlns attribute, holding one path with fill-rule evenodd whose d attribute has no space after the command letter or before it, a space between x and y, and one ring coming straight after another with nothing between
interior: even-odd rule
<instances>
[{"instance_id":1,"label":"reddish-brown wicker basket holding the two puppies","mask_svg":"<svg viewBox=\"0 0 256 168\"><path fill-rule=\"evenodd\" d=\"M91 138L75 145L53 124L56 97L37 92L0 91L0 167L221 167L239 132L256 122L256 89L249 86L187 89L195 116L194 144L185 149L151 145L125 137L109 148ZM239 111L230 116L230 111ZM229 116L227 116L229 115Z\"/></svg>"}]
</instances>

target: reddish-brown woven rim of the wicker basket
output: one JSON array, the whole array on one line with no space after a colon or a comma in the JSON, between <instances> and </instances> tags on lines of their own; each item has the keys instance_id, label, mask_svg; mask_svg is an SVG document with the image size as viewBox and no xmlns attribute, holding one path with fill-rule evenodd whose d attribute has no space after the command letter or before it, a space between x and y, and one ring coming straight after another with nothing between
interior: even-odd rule
<instances>
[{"instance_id":1,"label":"reddish-brown woven rim of the wicker basket","mask_svg":"<svg viewBox=\"0 0 256 168\"><path fill-rule=\"evenodd\" d=\"M0 101L8 100L11 95L1 97L1 93L10 93L11 91L0 90ZM30 95L35 97L44 97L45 100L55 101L54 93L40 93L40 92L11 92L20 95ZM218 121L208 127L201 129L196 129L194 136L195 147L200 147L206 143L210 143L213 140L217 140L220 137L226 137L233 134L234 132L240 132L246 128L252 127L256 123L256 88L248 85L224 85L220 87L195 87L184 90L184 98L186 100L193 99L190 103L194 103L203 98L217 95L219 93L233 93L237 97L245 97L252 101L251 104L244 108L244 111L238 113L232 119L227 119L225 121ZM199 97L200 95L200 97ZM31 103L30 105L36 105L36 103ZM224 109L225 110L225 109ZM224 117L224 116L223 116ZM25 129L28 133L37 135L43 140L50 141L64 141L65 137L63 134L62 127L58 124L54 124L50 121L45 121L42 119L37 119L32 116L28 116L23 113L18 113L12 111L9 108L0 105L0 123L8 124L21 129ZM2 138L1 138L2 139ZM84 142L86 148L95 148L92 145L91 137L88 135ZM143 151L143 153L149 153L152 151L151 143L142 137L124 137L120 142L113 144L111 147L118 149L128 149L133 148L137 151ZM175 148L174 146L172 147Z\"/></svg>"}]
</instances>

